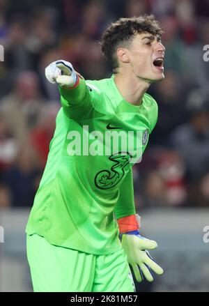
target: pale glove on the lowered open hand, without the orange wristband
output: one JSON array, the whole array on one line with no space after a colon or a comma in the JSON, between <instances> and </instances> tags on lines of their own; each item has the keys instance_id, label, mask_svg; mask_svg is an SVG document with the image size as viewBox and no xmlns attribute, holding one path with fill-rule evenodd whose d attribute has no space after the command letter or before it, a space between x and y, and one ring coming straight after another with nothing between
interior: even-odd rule
<instances>
[{"instance_id":1,"label":"pale glove on the lowered open hand, without the orange wristband","mask_svg":"<svg viewBox=\"0 0 209 306\"><path fill-rule=\"evenodd\" d=\"M123 234L121 244L127 255L127 261L132 266L137 282L144 280L144 277L148 282L153 282L153 274L150 268L158 275L164 273L163 269L150 257L147 251L154 250L157 247L157 243L154 240L140 236L139 231L133 231Z\"/></svg>"}]
</instances>

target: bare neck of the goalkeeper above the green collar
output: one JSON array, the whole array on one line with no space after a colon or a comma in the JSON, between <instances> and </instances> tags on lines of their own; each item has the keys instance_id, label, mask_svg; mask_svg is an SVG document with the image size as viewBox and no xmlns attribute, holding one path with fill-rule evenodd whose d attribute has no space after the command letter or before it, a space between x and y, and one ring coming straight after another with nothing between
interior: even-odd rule
<instances>
[{"instance_id":1,"label":"bare neck of the goalkeeper above the green collar","mask_svg":"<svg viewBox=\"0 0 209 306\"><path fill-rule=\"evenodd\" d=\"M137 78L133 74L122 74L120 72L116 73L114 82L124 100L132 105L141 105L144 93L150 86L148 82Z\"/></svg>"}]
</instances>

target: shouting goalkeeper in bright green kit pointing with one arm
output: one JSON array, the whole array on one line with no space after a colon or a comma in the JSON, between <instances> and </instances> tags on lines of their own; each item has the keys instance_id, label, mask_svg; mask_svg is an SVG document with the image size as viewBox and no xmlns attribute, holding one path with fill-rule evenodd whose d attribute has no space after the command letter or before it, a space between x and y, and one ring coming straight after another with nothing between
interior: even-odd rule
<instances>
[{"instance_id":1,"label":"shouting goalkeeper in bright green kit pointing with one arm","mask_svg":"<svg viewBox=\"0 0 209 306\"><path fill-rule=\"evenodd\" d=\"M58 84L62 107L26 226L34 291L132 292L128 263L138 282L152 282L151 271L163 273L148 253L157 243L139 234L132 151L120 144L116 152L113 143L107 155L103 137L140 131L140 146L134 143L144 152L157 121L157 103L146 91L164 78L161 33L153 15L111 24L101 40L114 71L109 79L85 81L63 60L45 70Z\"/></svg>"}]
</instances>

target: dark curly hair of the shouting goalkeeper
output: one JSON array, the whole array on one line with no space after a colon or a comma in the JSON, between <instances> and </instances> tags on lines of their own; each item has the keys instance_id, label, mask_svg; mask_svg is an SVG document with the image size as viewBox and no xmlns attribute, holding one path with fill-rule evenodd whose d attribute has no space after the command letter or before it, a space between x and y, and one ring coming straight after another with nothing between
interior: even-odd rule
<instances>
[{"instance_id":1,"label":"dark curly hair of the shouting goalkeeper","mask_svg":"<svg viewBox=\"0 0 209 306\"><path fill-rule=\"evenodd\" d=\"M154 15L120 18L104 31L100 45L102 53L110 63L114 72L118 68L116 50L118 47L128 47L137 33L150 33L161 36L162 29Z\"/></svg>"}]
</instances>

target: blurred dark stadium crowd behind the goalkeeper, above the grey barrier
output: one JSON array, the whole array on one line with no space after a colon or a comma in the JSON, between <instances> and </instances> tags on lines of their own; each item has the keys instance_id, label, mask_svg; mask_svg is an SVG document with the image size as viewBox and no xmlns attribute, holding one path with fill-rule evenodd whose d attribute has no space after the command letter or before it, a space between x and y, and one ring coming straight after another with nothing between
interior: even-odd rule
<instances>
[{"instance_id":1,"label":"blurred dark stadium crowd behind the goalkeeper, above the grey barrier","mask_svg":"<svg viewBox=\"0 0 209 306\"><path fill-rule=\"evenodd\" d=\"M110 77L102 31L144 13L164 29L166 78L149 90L159 119L134 166L136 204L209 207L208 0L0 0L0 207L33 205L60 107L45 67L65 59L85 79Z\"/></svg>"}]
</instances>

